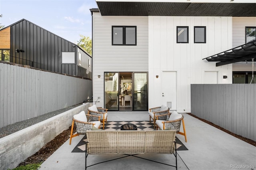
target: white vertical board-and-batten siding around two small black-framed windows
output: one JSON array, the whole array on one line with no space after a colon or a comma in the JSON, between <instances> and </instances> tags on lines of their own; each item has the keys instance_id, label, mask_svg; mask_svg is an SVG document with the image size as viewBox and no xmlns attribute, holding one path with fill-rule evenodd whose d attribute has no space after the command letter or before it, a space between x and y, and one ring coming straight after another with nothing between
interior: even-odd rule
<instances>
[{"instance_id":1,"label":"white vertical board-and-batten siding around two small black-framed windows","mask_svg":"<svg viewBox=\"0 0 256 170\"><path fill-rule=\"evenodd\" d=\"M176 43L177 26L189 27L189 43ZM206 43L194 43L194 26L206 26ZM162 71L177 73L178 112L190 112L190 84L204 83L205 71L217 71L218 83L232 83L231 64L202 60L232 47L232 17L149 16L148 27L149 108L162 104Z\"/></svg>"}]
</instances>

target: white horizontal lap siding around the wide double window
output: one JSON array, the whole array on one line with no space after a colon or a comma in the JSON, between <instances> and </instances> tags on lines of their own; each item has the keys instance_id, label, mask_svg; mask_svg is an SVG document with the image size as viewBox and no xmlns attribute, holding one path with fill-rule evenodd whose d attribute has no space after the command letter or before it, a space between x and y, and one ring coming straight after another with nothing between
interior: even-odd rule
<instances>
[{"instance_id":1,"label":"white horizontal lap siding around the wide double window","mask_svg":"<svg viewBox=\"0 0 256 170\"><path fill-rule=\"evenodd\" d=\"M148 71L148 17L93 13L93 96L104 107L104 72ZM112 45L112 26L136 26L137 45ZM100 75L100 78L98 78Z\"/></svg>"}]
</instances>

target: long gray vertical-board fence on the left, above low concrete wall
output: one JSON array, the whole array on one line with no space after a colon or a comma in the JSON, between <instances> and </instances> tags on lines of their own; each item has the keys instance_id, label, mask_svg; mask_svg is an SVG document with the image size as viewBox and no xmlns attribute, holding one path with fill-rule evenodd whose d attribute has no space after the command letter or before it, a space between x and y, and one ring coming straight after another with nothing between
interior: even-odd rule
<instances>
[{"instance_id":1,"label":"long gray vertical-board fence on the left, above low concrete wall","mask_svg":"<svg viewBox=\"0 0 256 170\"><path fill-rule=\"evenodd\" d=\"M91 97L91 80L0 63L0 128Z\"/></svg>"}]
</instances>

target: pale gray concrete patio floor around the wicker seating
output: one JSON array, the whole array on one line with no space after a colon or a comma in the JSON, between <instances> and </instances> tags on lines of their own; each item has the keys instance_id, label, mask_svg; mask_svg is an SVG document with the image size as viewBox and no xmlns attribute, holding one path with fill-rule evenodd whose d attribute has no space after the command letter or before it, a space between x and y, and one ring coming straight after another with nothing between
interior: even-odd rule
<instances>
[{"instance_id":1,"label":"pale gray concrete patio floor around the wicker seating","mask_svg":"<svg viewBox=\"0 0 256 170\"><path fill-rule=\"evenodd\" d=\"M212 127L186 113L184 123L187 142L184 136L176 134L188 150L178 151L178 170L256 170L256 147L248 144L218 128ZM148 121L148 113L119 112L109 113L108 121ZM183 128L181 126L181 130ZM72 138L72 144L67 140L41 165L45 170L84 170L85 153L73 153L72 150L84 135ZM87 157L88 165L122 157L122 154L98 154ZM142 158L175 165L175 157L170 154L140 154ZM143 160L133 156L97 164L88 170L156 170L173 169L156 162Z\"/></svg>"}]
</instances>

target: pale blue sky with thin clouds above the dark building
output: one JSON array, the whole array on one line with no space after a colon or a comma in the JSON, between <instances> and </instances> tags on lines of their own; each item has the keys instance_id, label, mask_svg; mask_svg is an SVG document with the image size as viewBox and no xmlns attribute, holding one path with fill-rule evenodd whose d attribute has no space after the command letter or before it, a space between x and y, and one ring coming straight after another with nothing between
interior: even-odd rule
<instances>
[{"instance_id":1,"label":"pale blue sky with thin clouds above the dark building","mask_svg":"<svg viewBox=\"0 0 256 170\"><path fill-rule=\"evenodd\" d=\"M92 38L91 8L98 8L95 0L0 0L0 23L26 19L77 44L80 35Z\"/></svg>"}]
</instances>

